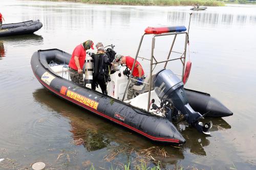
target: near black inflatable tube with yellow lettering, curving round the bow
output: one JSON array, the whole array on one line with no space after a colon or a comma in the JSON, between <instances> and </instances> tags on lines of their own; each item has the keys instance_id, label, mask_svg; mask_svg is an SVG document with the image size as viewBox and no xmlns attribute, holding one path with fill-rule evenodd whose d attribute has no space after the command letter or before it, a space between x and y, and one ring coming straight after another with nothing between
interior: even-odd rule
<instances>
[{"instance_id":1,"label":"near black inflatable tube with yellow lettering, curving round the bow","mask_svg":"<svg viewBox=\"0 0 256 170\"><path fill-rule=\"evenodd\" d=\"M37 80L60 98L74 103L156 142L182 144L185 139L167 119L151 115L98 91L61 78L49 67L54 61L68 64L71 55L57 49L35 52L31 67Z\"/></svg>"}]
</instances>

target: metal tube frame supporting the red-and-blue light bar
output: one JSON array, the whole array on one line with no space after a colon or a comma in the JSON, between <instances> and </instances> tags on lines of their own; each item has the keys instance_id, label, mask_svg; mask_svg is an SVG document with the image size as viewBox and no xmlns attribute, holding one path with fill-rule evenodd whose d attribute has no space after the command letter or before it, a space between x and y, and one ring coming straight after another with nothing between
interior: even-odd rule
<instances>
[{"instance_id":1,"label":"metal tube frame supporting the red-and-blue light bar","mask_svg":"<svg viewBox=\"0 0 256 170\"><path fill-rule=\"evenodd\" d=\"M163 34L146 34L146 33L144 33L144 34L141 36L140 43L139 43L139 47L138 47L138 50L137 50L137 53L136 53L136 57L135 57L135 59L134 59L133 67L132 67L132 70L131 70L131 75L133 74L134 66L135 66L135 63L136 63L137 58L138 58L138 54L139 54L139 51L140 51L140 47L141 47L141 43L142 43L142 40L143 40L143 38L144 38L144 35L153 35L153 37L152 37L152 47L151 47L151 59L150 59L150 84L149 84L149 85L150 85L150 88L149 88L149 90L148 90L147 111L150 110L150 103L151 103L151 102L150 102L150 97L151 97L151 87L152 87L152 86L151 86L151 82L152 82L153 65L156 66L156 65L159 64L159 63L165 62L164 68L166 68L167 62L169 62L169 61L174 61L174 60L179 60L179 59L180 59L182 65L183 65L183 68L182 68L182 75L181 75L181 77L182 77L182 79L183 79L184 70L185 70L187 43L189 42L189 40L188 40L188 33L189 33L189 27L190 27L191 14L192 14L192 13L189 14L190 17L189 17L189 25L188 25L188 31L187 31L187 32L178 32L178 33L175 32L175 33L163 33ZM186 35L186 37L185 37L185 44L184 44L184 52L183 52L183 53L174 52L174 51L173 51L173 46L174 46L176 37L177 37L177 35L182 35L182 34L185 34L185 35ZM172 45L170 46L170 50L169 50L167 59L164 60L164 61L158 62L158 61L156 60L156 58L154 57L154 48L155 48L155 40L156 40L156 37L168 36L168 35L175 35L175 37L174 37L174 39L173 39L173 43L172 43ZM179 53L179 54L181 54L181 57L179 57L179 58L174 58L174 59L169 59L169 58L170 58L170 54L171 54L172 52L173 52L173 53ZM139 57L139 58L141 58L141 57ZM143 59L144 59L144 58L143 58ZM155 60L154 63L153 63L153 59ZM147 59L147 60L148 60L148 59ZM155 67L154 67L154 68L155 68ZM128 82L127 82L127 85L126 85L124 94L123 94L122 101L124 101L124 98L125 98L125 95L126 95L126 92L127 92L127 88L128 88L128 86L130 85L131 80L135 80L135 79L132 79L131 76L130 76L130 78L129 78ZM138 80L136 80L136 81L138 81ZM148 83L145 83L145 82L141 82L141 83L143 83L143 84L148 84Z\"/></svg>"}]
</instances>

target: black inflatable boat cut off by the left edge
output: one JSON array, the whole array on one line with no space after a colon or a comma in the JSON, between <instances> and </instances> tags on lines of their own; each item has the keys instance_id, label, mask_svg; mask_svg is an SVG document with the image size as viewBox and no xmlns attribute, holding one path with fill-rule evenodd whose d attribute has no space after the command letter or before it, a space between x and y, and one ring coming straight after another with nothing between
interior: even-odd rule
<instances>
[{"instance_id":1,"label":"black inflatable boat cut off by the left edge","mask_svg":"<svg viewBox=\"0 0 256 170\"><path fill-rule=\"evenodd\" d=\"M0 29L0 37L9 35L31 34L38 31L42 27L39 20L30 20L19 23L8 23L2 25Z\"/></svg>"}]
</instances>

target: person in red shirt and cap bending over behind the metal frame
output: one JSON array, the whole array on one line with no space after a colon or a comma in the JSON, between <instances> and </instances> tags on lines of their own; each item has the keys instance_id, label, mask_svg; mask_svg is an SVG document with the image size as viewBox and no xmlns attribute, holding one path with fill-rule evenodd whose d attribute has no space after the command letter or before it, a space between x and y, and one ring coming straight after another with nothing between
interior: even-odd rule
<instances>
[{"instance_id":1,"label":"person in red shirt and cap bending over behind the metal frame","mask_svg":"<svg viewBox=\"0 0 256 170\"><path fill-rule=\"evenodd\" d=\"M116 62L121 60L122 64L126 64L126 67L128 67L130 70L132 70L134 58L132 58L130 56L116 55L115 59L116 59ZM143 79L144 79L144 70L138 61L135 62L133 75L131 76L131 78L133 78L135 80L131 80L131 83L129 84L129 86L127 88L127 99L133 99L133 97L134 97L133 96L133 85L135 85L135 84L142 85L143 84L141 82L143 82ZM138 82L136 80L138 80L140 82Z\"/></svg>"}]
</instances>

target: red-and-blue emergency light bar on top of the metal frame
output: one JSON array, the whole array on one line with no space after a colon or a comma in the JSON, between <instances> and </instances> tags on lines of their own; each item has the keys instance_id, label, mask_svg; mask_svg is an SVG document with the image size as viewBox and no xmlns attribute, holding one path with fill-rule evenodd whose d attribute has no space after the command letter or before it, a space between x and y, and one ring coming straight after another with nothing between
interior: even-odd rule
<instances>
[{"instance_id":1,"label":"red-and-blue emergency light bar on top of the metal frame","mask_svg":"<svg viewBox=\"0 0 256 170\"><path fill-rule=\"evenodd\" d=\"M176 27L147 27L145 29L146 34L162 34L162 33L173 33L173 32L182 32L186 31L185 26L176 26Z\"/></svg>"}]
</instances>

